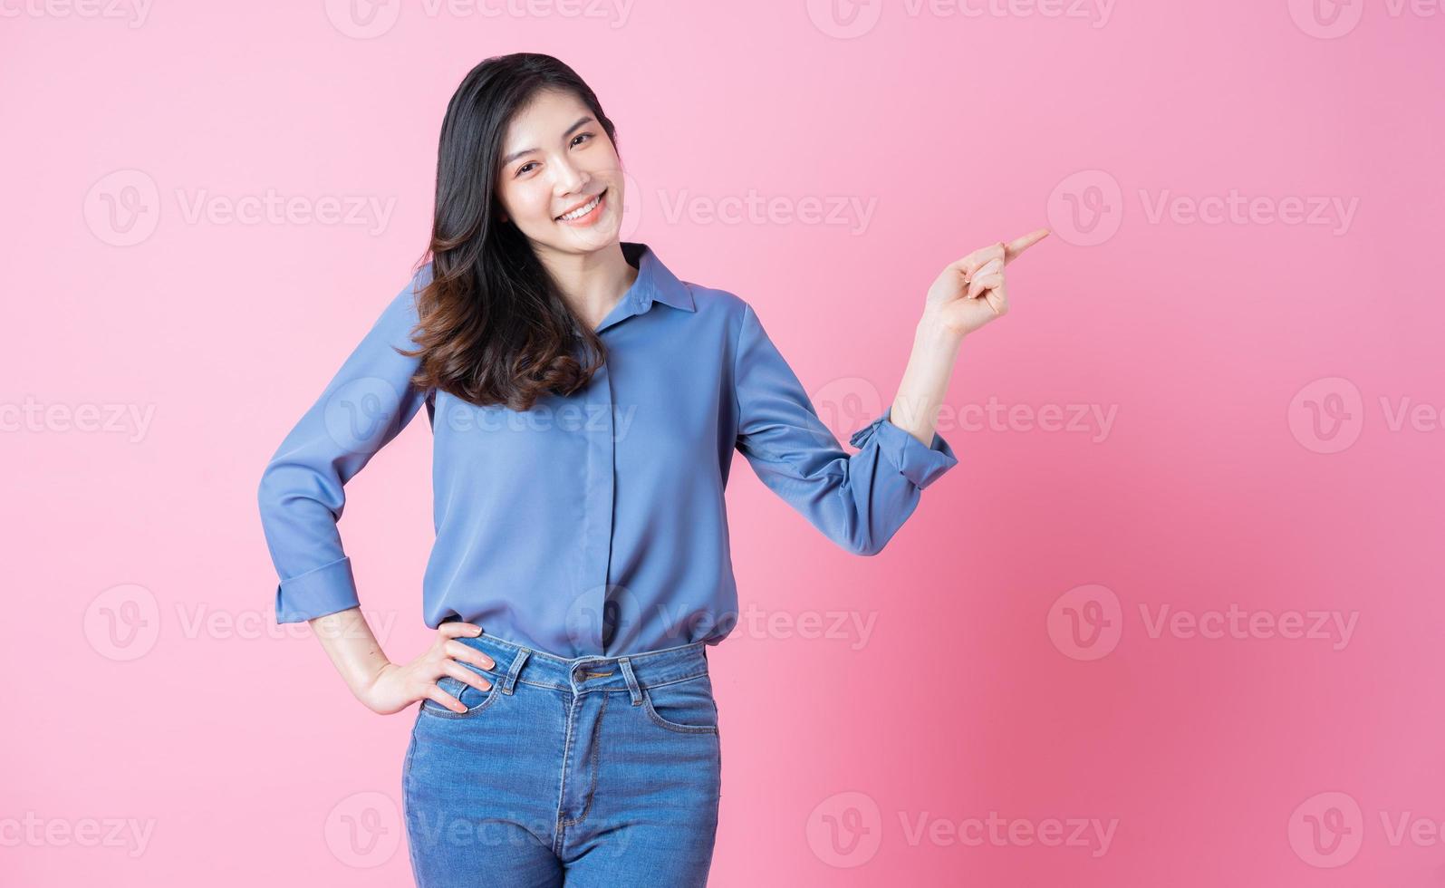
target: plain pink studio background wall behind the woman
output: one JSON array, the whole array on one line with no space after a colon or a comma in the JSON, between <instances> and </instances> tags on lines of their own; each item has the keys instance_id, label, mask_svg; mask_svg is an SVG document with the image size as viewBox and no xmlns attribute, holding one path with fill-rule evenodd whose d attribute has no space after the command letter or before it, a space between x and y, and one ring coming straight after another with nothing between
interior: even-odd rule
<instances>
[{"instance_id":1,"label":"plain pink studio background wall behind the woman","mask_svg":"<svg viewBox=\"0 0 1445 888\"><path fill-rule=\"evenodd\" d=\"M277 629L256 484L425 247L451 91L529 49L617 121L627 239L753 302L840 435L946 262L1053 227L881 555L736 460L712 884L1441 884L1445 12L510 9L6 4L0 882L409 884L415 710ZM429 445L342 522L396 659Z\"/></svg>"}]
</instances>

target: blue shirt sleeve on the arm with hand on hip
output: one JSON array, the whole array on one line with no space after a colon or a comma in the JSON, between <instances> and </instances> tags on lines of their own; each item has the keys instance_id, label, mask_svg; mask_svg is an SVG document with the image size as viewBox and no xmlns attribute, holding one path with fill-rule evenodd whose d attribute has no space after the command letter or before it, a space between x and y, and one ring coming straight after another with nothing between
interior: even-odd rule
<instances>
[{"instance_id":1,"label":"blue shirt sleeve on the arm with hand on hip","mask_svg":"<svg viewBox=\"0 0 1445 888\"><path fill-rule=\"evenodd\" d=\"M345 483L418 414L426 390L412 385L416 294L431 265L402 288L316 402L266 464L257 489L262 528L280 583L276 622L296 623L358 606L351 560L337 528Z\"/></svg>"}]
</instances>

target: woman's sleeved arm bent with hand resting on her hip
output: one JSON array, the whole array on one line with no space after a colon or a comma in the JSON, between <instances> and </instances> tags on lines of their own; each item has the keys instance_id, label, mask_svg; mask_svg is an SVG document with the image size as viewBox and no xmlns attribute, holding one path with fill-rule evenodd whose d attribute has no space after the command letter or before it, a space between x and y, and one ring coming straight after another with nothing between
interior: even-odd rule
<instances>
[{"instance_id":1,"label":"woman's sleeved arm bent with hand resting on her hip","mask_svg":"<svg viewBox=\"0 0 1445 888\"><path fill-rule=\"evenodd\" d=\"M257 489L266 545L280 583L276 622L308 622L351 693L376 712L397 712L431 697L460 710L436 687L451 674L486 690L474 671L452 657L490 668L490 659L455 635L480 633L468 623L444 623L432 646L406 665L392 664L360 610L351 560L337 522L345 483L418 414L426 392L412 385L416 295L431 282L431 265L416 272L387 304L361 343L276 448Z\"/></svg>"}]
</instances>

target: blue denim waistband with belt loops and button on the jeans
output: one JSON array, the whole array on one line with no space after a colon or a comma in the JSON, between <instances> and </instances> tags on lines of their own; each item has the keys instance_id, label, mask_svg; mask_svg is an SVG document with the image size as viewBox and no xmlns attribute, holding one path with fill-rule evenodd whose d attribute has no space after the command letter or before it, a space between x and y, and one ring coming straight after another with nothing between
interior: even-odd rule
<instances>
[{"instance_id":1,"label":"blue denim waistband with belt loops and button on the jeans","mask_svg":"<svg viewBox=\"0 0 1445 888\"><path fill-rule=\"evenodd\" d=\"M695 641L676 648L660 648L624 657L575 657L564 659L514 641L483 632L477 636L458 636L457 641L483 651L497 664L483 670L499 684L499 690L510 694L516 684L535 684L553 690L571 691L630 691L634 701L640 690L685 678L705 675L708 671L707 642Z\"/></svg>"}]
</instances>

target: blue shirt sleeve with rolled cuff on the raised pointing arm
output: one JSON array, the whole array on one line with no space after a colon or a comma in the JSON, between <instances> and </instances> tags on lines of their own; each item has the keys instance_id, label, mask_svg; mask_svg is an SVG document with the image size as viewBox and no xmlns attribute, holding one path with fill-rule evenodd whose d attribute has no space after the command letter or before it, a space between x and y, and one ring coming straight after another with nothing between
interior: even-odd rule
<instances>
[{"instance_id":1,"label":"blue shirt sleeve with rolled cuff on the raised pointing arm","mask_svg":"<svg viewBox=\"0 0 1445 888\"><path fill-rule=\"evenodd\" d=\"M737 450L770 490L850 552L883 551L923 487L958 464L936 432L925 447L894 425L892 408L851 435L858 453L850 456L751 305L743 311L734 362Z\"/></svg>"}]
</instances>

